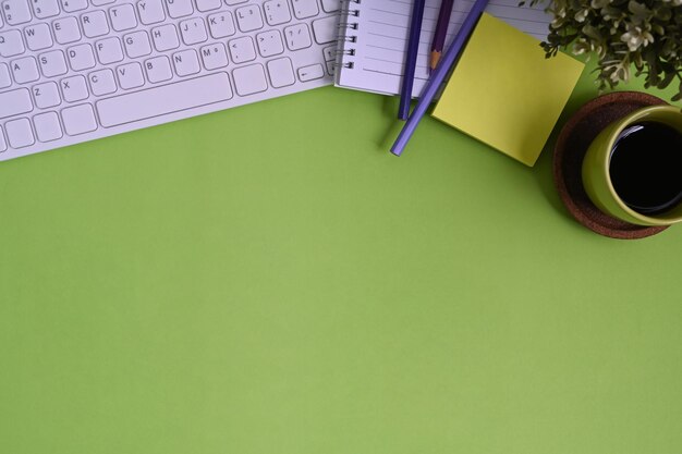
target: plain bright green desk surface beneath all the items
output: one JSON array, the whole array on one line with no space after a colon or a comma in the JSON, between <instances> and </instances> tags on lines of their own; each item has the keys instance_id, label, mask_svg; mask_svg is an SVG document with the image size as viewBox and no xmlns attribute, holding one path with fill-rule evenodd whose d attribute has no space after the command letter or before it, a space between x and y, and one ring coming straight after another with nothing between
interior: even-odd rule
<instances>
[{"instance_id":1,"label":"plain bright green desk surface beneath all the items","mask_svg":"<svg viewBox=\"0 0 682 454\"><path fill-rule=\"evenodd\" d=\"M395 108L327 87L1 163L0 453L682 452L682 225L587 231L551 144L428 119L392 157Z\"/></svg>"}]
</instances>

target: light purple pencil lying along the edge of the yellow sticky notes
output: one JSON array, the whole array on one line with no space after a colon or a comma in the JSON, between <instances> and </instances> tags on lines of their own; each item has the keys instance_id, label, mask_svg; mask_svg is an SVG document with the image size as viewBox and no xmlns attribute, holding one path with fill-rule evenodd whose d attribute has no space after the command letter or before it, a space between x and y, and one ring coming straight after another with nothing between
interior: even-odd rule
<instances>
[{"instance_id":1,"label":"light purple pencil lying along the edge of the yellow sticky notes","mask_svg":"<svg viewBox=\"0 0 682 454\"><path fill-rule=\"evenodd\" d=\"M431 77L428 79L428 83L424 87L424 91L422 93L419 101L415 106L412 115L410 115L410 119L407 119L407 122L403 126L402 131L398 135L398 138L395 139L395 143L391 147L391 152L393 155L400 156L405 149L407 140L410 140L410 137L412 137L412 134L414 134L417 124L419 124L419 120L422 120L422 116L424 116L424 114L426 113L426 110L434 100L434 97L436 97L438 88L440 88L440 85L446 79L446 76L448 75L450 70L452 70L458 59L460 58L460 54L464 49L464 45L466 44L468 36L476 26L478 17L480 17L480 14L486 9L487 4L488 0L476 0L474 5L472 7L472 10L466 15L466 19L462 24L462 28L460 28L456 36L454 37L454 40L452 41L452 45L450 45L450 47L443 54L440 64L438 65L438 68L436 68L436 71L431 73Z\"/></svg>"}]
</instances>

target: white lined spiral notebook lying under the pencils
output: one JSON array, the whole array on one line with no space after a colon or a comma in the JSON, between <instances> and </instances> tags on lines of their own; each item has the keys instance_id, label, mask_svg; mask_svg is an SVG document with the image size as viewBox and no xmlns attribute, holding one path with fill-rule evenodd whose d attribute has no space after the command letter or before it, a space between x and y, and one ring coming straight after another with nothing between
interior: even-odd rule
<instances>
[{"instance_id":1,"label":"white lined spiral notebook lying under the pencils","mask_svg":"<svg viewBox=\"0 0 682 454\"><path fill-rule=\"evenodd\" d=\"M486 12L528 35L544 40L551 15L544 5L519 7L520 0L490 0ZM364 91L398 95L407 49L411 0L348 0L343 2L336 85ZM455 0L446 48L460 29L473 0ZM440 0L426 0L413 97L428 81L428 56ZM495 49L490 49L494 58Z\"/></svg>"}]
</instances>

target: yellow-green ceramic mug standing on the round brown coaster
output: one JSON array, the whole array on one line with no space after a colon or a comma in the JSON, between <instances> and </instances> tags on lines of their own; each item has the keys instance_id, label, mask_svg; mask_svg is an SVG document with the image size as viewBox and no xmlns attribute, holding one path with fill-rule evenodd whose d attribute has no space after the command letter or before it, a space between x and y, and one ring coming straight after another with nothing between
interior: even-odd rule
<instances>
[{"instance_id":1,"label":"yellow-green ceramic mug standing on the round brown coaster","mask_svg":"<svg viewBox=\"0 0 682 454\"><path fill-rule=\"evenodd\" d=\"M626 204L613 185L612 176L616 176L616 174L612 174L614 172L612 164L616 162L612 162L612 159L614 159L616 154L621 152L618 150L618 146L623 140L623 137L628 137L630 131L642 130L640 126L642 124L653 125L655 130L656 127L662 127L662 130L671 132L674 142L672 144L663 142L662 146L668 148L666 151L668 155L671 151L675 152L673 159L678 159L677 162L682 161L682 147L679 147L680 137L682 137L682 111L674 106L646 107L609 124L597 135L589 145L583 160L583 185L597 208L610 216L637 225L670 225L682 221L682 194L678 194L678 197L672 199L672 205L666 207L661 212L655 212L654 210L647 212L636 210L632 204ZM678 134L673 130L677 130ZM666 137L670 138L669 135ZM650 140L647 143L650 143ZM661 148L660 140L657 144L651 144L651 147ZM646 152L646 150L642 151ZM646 154L642 156L645 159L647 158ZM655 154L651 152L649 157L655 159ZM653 164L657 163L650 162L649 167ZM670 165L667 165L666 169L661 170L661 174L666 173L669 175L670 168ZM637 170L630 170L632 171L631 173L636 175ZM672 184L682 191L682 167L675 165L674 172L677 173L673 176L674 182ZM634 188L635 192L640 189Z\"/></svg>"}]
</instances>

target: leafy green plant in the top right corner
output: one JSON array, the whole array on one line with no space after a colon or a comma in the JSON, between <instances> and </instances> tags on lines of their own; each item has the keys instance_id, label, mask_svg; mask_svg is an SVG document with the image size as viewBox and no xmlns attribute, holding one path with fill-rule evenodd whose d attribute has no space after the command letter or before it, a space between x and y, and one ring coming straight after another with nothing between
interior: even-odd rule
<instances>
[{"instance_id":1,"label":"leafy green plant in the top right corner","mask_svg":"<svg viewBox=\"0 0 682 454\"><path fill-rule=\"evenodd\" d=\"M522 2L523 4L525 2ZM553 15L543 49L598 56L599 89L644 74L646 87L679 84L682 99L682 0L531 0Z\"/></svg>"}]
</instances>

